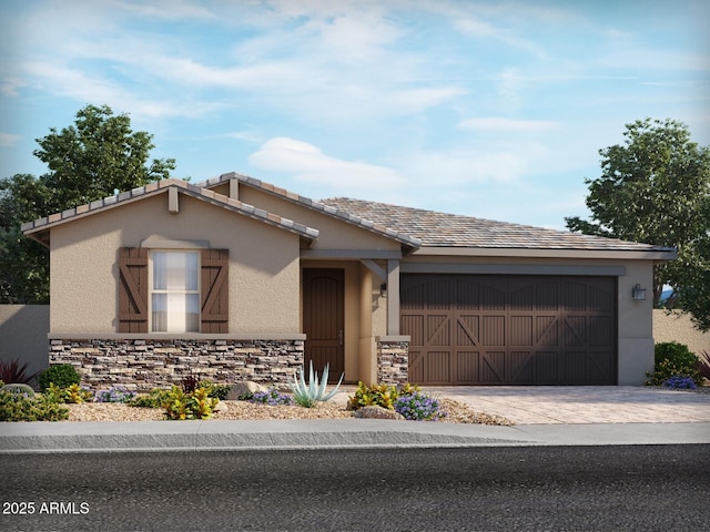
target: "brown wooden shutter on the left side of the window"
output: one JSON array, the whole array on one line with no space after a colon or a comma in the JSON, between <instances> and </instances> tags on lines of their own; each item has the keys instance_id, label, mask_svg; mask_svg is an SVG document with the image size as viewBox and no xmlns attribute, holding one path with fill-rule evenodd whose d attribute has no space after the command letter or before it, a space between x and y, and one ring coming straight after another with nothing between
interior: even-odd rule
<instances>
[{"instance_id":1,"label":"brown wooden shutter on the left side of the window","mask_svg":"<svg viewBox=\"0 0 710 532\"><path fill-rule=\"evenodd\" d=\"M119 249L119 332L148 332L148 249Z\"/></svg>"}]
</instances>

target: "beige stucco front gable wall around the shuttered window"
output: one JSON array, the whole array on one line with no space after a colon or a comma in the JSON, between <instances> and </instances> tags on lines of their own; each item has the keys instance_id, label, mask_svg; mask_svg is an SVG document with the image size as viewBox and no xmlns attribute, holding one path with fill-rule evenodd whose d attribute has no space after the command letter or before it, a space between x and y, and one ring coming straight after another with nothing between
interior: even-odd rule
<instances>
[{"instance_id":1,"label":"beige stucco front gable wall around the shuttered window","mask_svg":"<svg viewBox=\"0 0 710 532\"><path fill-rule=\"evenodd\" d=\"M126 203L51 233L52 334L118 331L116 249L148 237L207 241L230 249L230 334L300 332L300 237L180 194Z\"/></svg>"}]
</instances>

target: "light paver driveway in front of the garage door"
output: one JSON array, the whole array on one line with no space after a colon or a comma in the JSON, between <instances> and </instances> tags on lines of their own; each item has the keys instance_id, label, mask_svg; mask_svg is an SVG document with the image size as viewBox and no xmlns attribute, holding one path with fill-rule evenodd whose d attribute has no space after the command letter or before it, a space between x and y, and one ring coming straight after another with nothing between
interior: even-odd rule
<instances>
[{"instance_id":1,"label":"light paver driveway in front of the garage door","mask_svg":"<svg viewBox=\"0 0 710 532\"><path fill-rule=\"evenodd\" d=\"M710 422L710 393L635 386L423 387L528 423Z\"/></svg>"}]
</instances>

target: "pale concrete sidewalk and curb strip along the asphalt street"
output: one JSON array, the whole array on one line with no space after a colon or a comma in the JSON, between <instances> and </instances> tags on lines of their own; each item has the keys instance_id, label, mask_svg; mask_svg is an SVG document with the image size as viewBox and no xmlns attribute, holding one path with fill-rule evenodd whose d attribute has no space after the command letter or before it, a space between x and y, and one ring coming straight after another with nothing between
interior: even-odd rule
<instances>
[{"instance_id":1,"label":"pale concrete sidewalk and curb strip along the asphalt street","mask_svg":"<svg viewBox=\"0 0 710 532\"><path fill-rule=\"evenodd\" d=\"M0 453L710 443L710 423L494 427L374 419L2 423Z\"/></svg>"}]
</instances>

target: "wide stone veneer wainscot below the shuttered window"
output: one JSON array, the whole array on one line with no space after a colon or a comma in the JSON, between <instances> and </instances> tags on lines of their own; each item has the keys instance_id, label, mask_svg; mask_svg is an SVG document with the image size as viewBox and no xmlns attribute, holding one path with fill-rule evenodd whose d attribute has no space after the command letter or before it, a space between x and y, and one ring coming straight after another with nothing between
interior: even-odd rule
<instances>
[{"instance_id":1,"label":"wide stone veneer wainscot below the shuttered window","mask_svg":"<svg viewBox=\"0 0 710 532\"><path fill-rule=\"evenodd\" d=\"M120 385L149 391L193 375L222 385L285 387L303 367L303 349L301 339L51 339L49 364L71 364L94 390Z\"/></svg>"}]
</instances>

